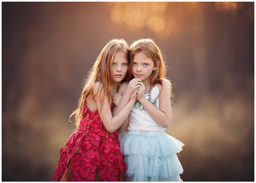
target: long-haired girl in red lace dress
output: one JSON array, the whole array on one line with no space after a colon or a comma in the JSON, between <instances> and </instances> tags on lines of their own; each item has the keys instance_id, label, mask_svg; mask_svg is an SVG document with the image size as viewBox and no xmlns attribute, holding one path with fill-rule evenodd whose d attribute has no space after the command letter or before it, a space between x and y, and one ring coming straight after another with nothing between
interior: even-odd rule
<instances>
[{"instance_id":1,"label":"long-haired girl in red lace dress","mask_svg":"<svg viewBox=\"0 0 256 183\"><path fill-rule=\"evenodd\" d=\"M100 52L85 80L79 106L70 115L75 114L78 128L60 150L55 181L124 181L119 127L136 101L140 82L133 84L130 102L115 117L112 96L120 82L127 81L128 60L129 47L122 39L110 40Z\"/></svg>"}]
</instances>

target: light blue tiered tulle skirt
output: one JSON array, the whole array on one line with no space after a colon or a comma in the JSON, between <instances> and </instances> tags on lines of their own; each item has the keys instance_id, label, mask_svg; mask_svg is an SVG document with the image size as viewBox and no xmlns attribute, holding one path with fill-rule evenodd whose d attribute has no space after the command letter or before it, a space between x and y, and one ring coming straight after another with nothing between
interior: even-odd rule
<instances>
[{"instance_id":1,"label":"light blue tiered tulle skirt","mask_svg":"<svg viewBox=\"0 0 256 183\"><path fill-rule=\"evenodd\" d=\"M184 144L164 131L119 132L127 169L125 181L182 181L183 168L176 153Z\"/></svg>"}]
</instances>

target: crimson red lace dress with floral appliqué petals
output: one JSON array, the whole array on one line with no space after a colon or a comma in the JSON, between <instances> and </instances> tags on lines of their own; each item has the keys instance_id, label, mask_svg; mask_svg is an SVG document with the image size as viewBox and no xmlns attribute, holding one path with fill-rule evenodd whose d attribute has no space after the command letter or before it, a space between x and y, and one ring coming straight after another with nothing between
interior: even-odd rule
<instances>
[{"instance_id":1,"label":"crimson red lace dress with floral appliqu\u00e9 petals","mask_svg":"<svg viewBox=\"0 0 256 183\"><path fill-rule=\"evenodd\" d=\"M118 134L119 129L108 133L98 109L90 111L85 103L78 129L60 149L55 181L124 181L126 164Z\"/></svg>"}]
</instances>

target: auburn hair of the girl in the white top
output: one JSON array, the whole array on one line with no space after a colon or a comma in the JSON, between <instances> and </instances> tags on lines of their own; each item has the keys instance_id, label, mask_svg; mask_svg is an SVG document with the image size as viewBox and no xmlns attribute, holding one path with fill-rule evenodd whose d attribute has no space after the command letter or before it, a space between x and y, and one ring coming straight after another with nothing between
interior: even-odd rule
<instances>
[{"instance_id":1,"label":"auburn hair of the girl in the white top","mask_svg":"<svg viewBox=\"0 0 256 183\"><path fill-rule=\"evenodd\" d=\"M132 43L132 45L130 46L129 69L132 70L134 55L136 53L139 53L140 51L142 51L143 53L148 55L148 57L153 60L155 66L157 65L156 62L160 62L157 69L153 70L150 75L150 84L152 86L155 86L156 84L162 85L162 80L166 79L168 81L169 88L170 88L170 97L172 97L171 81L169 80L169 78L165 77L167 69L166 69L166 65L165 65L166 61L164 58L164 54L161 51L161 49L158 48L158 46L156 45L154 40L149 39L149 38L148 39L140 39L140 40L134 41ZM129 79L133 78L131 71L130 72L128 71L127 75L129 75L128 76ZM162 90L160 91L157 98L160 96L161 92L162 92Z\"/></svg>"}]
</instances>

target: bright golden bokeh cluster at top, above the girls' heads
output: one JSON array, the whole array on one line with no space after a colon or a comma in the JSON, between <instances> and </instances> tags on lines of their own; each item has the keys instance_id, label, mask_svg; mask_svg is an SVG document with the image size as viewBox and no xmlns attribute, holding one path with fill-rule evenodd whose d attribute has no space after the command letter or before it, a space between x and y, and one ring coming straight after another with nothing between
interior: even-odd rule
<instances>
[{"instance_id":1,"label":"bright golden bokeh cluster at top, above the girls' heads","mask_svg":"<svg viewBox=\"0 0 256 183\"><path fill-rule=\"evenodd\" d=\"M167 32L165 11L167 2L107 2L111 5L110 19L116 24L125 24L130 31L139 31L143 27L156 32ZM167 22L168 23L168 22Z\"/></svg>"}]
</instances>

